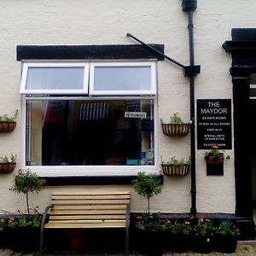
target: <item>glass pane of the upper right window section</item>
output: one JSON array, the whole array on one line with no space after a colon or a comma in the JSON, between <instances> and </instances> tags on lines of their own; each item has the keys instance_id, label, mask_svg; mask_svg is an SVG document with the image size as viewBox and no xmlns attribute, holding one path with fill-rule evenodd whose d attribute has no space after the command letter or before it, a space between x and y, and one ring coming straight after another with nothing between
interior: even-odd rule
<instances>
[{"instance_id":1,"label":"glass pane of the upper right window section","mask_svg":"<svg viewBox=\"0 0 256 256\"><path fill-rule=\"evenodd\" d=\"M94 90L151 90L151 67L95 67Z\"/></svg>"}]
</instances>

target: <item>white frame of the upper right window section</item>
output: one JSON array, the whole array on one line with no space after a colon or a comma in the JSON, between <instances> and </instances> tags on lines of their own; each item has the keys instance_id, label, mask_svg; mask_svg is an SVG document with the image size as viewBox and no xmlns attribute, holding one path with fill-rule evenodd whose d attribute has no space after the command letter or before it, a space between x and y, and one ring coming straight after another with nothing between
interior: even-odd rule
<instances>
[{"instance_id":1,"label":"white frame of the upper right window section","mask_svg":"<svg viewBox=\"0 0 256 256\"><path fill-rule=\"evenodd\" d=\"M94 78L95 67L150 67L151 84L150 90L95 90ZM156 94L156 67L155 62L92 62L90 63L89 91L91 96L147 96Z\"/></svg>"}]
</instances>

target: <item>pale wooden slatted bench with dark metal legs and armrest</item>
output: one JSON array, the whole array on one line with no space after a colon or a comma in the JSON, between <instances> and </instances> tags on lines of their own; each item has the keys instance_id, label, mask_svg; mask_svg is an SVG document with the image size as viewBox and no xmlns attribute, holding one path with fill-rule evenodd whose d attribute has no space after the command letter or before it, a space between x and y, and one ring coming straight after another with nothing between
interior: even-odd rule
<instances>
[{"instance_id":1,"label":"pale wooden slatted bench with dark metal legs and armrest","mask_svg":"<svg viewBox=\"0 0 256 256\"><path fill-rule=\"evenodd\" d=\"M129 253L129 191L56 192L45 208L39 254L44 247L44 229L124 228L125 253ZM49 221L46 223L46 219Z\"/></svg>"}]
</instances>

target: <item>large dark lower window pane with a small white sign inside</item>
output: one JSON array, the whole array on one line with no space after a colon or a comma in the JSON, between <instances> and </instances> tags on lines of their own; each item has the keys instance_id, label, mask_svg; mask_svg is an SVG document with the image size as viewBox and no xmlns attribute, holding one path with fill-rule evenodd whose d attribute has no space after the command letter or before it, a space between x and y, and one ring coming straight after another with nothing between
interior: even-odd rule
<instances>
[{"instance_id":1,"label":"large dark lower window pane with a small white sign inside","mask_svg":"<svg viewBox=\"0 0 256 256\"><path fill-rule=\"evenodd\" d=\"M27 100L26 165L154 165L154 101Z\"/></svg>"}]
</instances>

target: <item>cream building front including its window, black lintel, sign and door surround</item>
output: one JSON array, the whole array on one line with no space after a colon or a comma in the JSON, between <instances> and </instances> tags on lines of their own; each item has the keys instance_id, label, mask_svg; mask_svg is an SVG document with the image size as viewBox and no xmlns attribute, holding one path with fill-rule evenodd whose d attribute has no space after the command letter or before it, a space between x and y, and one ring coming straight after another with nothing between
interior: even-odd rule
<instances>
[{"instance_id":1,"label":"cream building front including its window, black lintel, sign and door surround","mask_svg":"<svg viewBox=\"0 0 256 256\"><path fill-rule=\"evenodd\" d=\"M23 198L9 190L20 168L47 180L40 196L32 195L41 210L55 189L128 189L131 212L143 212L147 202L131 181L137 172L157 173L163 191L152 199L153 212L232 215L253 236L255 3L197 3L195 65L182 3L0 2L0 115L19 110L15 131L0 133L0 156L17 155L15 171L0 174L1 213L25 211ZM164 135L160 119L177 113L189 122L192 105L195 132ZM204 158L214 144L230 155L218 175L207 172ZM163 175L162 161L191 154L192 172Z\"/></svg>"}]
</instances>

